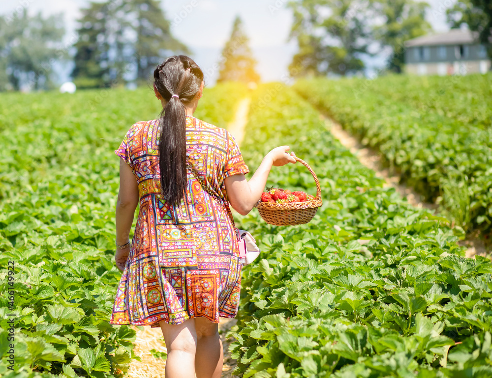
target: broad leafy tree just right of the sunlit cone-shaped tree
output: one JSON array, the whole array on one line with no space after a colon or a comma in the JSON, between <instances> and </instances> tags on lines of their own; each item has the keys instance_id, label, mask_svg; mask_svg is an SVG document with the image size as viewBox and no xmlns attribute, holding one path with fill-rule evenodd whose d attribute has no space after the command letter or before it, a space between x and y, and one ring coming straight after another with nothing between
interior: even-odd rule
<instances>
[{"instance_id":1,"label":"broad leafy tree just right of the sunlit cone-shaped tree","mask_svg":"<svg viewBox=\"0 0 492 378\"><path fill-rule=\"evenodd\" d=\"M364 68L370 55L372 17L370 1L300 0L288 5L294 12L290 39L299 53L289 70L292 76L347 75Z\"/></svg>"}]
</instances>

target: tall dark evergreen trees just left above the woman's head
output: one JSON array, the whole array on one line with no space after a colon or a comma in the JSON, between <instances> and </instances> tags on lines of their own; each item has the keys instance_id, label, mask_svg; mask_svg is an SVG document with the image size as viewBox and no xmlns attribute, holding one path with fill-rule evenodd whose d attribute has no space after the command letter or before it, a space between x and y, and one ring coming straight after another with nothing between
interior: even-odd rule
<instances>
[{"instance_id":1,"label":"tall dark evergreen trees just left above the woman's head","mask_svg":"<svg viewBox=\"0 0 492 378\"><path fill-rule=\"evenodd\" d=\"M189 52L172 36L157 0L92 1L79 24L72 72L79 86L144 81L165 55Z\"/></svg>"}]
</instances>

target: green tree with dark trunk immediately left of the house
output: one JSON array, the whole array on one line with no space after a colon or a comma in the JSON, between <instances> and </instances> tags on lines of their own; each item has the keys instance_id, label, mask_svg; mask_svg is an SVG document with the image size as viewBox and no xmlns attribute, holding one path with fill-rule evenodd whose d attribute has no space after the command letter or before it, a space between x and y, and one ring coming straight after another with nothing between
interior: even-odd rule
<instances>
[{"instance_id":1,"label":"green tree with dark trunk immediately left of the house","mask_svg":"<svg viewBox=\"0 0 492 378\"><path fill-rule=\"evenodd\" d=\"M382 47L391 48L388 69L400 73L405 63L405 41L431 30L425 20L429 4L414 0L384 0L376 1L375 7L384 21L374 28L374 38Z\"/></svg>"}]
</instances>

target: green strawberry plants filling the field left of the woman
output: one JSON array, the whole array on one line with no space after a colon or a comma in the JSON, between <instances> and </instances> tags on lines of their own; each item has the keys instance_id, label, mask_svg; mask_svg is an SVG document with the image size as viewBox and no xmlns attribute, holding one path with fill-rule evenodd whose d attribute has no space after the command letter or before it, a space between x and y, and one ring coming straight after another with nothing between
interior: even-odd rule
<instances>
[{"instance_id":1,"label":"green strawberry plants filling the field left of the woman","mask_svg":"<svg viewBox=\"0 0 492 378\"><path fill-rule=\"evenodd\" d=\"M207 88L201 111L229 122L214 101L229 90ZM0 290L8 294L0 298L0 376L122 376L135 332L108 323L121 276L113 151L131 124L158 116L160 103L148 88L0 99Z\"/></svg>"}]
</instances>

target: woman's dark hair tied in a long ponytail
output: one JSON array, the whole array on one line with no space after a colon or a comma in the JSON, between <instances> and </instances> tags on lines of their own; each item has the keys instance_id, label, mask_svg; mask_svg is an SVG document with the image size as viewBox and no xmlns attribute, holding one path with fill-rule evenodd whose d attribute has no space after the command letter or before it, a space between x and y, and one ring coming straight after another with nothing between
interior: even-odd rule
<instances>
[{"instance_id":1,"label":"woman's dark hair tied in a long ponytail","mask_svg":"<svg viewBox=\"0 0 492 378\"><path fill-rule=\"evenodd\" d=\"M154 84L166 100L160 113L159 166L162 194L178 204L186 188L186 110L195 99L203 72L187 56L171 56L154 70Z\"/></svg>"}]
</instances>

